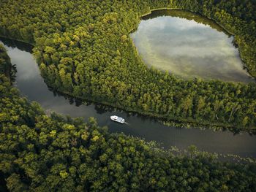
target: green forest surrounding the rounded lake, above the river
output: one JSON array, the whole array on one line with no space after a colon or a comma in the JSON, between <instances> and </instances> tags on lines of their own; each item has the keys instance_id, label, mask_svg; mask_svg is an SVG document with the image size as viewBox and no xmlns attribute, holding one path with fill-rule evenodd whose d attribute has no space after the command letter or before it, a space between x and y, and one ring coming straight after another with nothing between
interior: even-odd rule
<instances>
[{"instance_id":1,"label":"green forest surrounding the rounded lake, above the river","mask_svg":"<svg viewBox=\"0 0 256 192\"><path fill-rule=\"evenodd\" d=\"M256 131L256 83L184 80L148 69L130 31L152 9L186 9L230 34L256 77L256 3L252 0L2 1L0 35L34 45L49 87L165 121Z\"/></svg>"}]
</instances>

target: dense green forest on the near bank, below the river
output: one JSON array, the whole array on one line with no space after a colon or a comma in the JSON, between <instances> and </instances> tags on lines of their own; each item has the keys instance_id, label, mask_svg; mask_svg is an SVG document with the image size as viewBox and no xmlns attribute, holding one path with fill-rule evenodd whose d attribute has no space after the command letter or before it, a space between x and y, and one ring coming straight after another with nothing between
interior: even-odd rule
<instances>
[{"instance_id":1,"label":"dense green forest on the near bank, below the river","mask_svg":"<svg viewBox=\"0 0 256 192\"><path fill-rule=\"evenodd\" d=\"M1 69L10 58L1 47ZM4 67L2 67L4 66ZM195 146L174 154L109 134L97 120L45 114L0 71L0 191L255 191L256 164Z\"/></svg>"}]
</instances>

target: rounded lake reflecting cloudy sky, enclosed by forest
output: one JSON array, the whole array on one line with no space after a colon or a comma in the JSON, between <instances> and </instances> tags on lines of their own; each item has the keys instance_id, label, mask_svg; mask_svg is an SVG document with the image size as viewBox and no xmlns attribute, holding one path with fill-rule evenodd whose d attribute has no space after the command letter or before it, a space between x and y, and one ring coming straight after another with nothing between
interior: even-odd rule
<instances>
[{"instance_id":1,"label":"rounded lake reflecting cloudy sky, enclosed by forest","mask_svg":"<svg viewBox=\"0 0 256 192\"><path fill-rule=\"evenodd\" d=\"M243 69L233 36L192 12L154 11L131 37L148 66L186 79L254 81Z\"/></svg>"}]
</instances>

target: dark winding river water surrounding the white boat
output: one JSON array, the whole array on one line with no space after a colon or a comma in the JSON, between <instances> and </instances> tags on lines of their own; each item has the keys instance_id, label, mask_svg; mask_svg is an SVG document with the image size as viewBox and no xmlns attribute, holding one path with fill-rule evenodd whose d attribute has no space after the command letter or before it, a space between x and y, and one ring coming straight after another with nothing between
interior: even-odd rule
<instances>
[{"instance_id":1,"label":"dark winding river water surrounding the white boat","mask_svg":"<svg viewBox=\"0 0 256 192\"><path fill-rule=\"evenodd\" d=\"M37 101L45 110L53 110L71 117L97 118L100 126L108 126L110 132L124 132L146 141L157 141L163 147L176 146L185 149L196 145L200 150L216 153L233 153L242 157L256 158L256 137L249 134L233 135L230 131L201 131L197 128L175 128L163 126L152 118L123 111L100 104L79 105L75 99L59 96L50 91L39 74L39 68L31 55L31 48L20 42L0 39L7 48L12 64L17 67L16 85L30 101ZM127 124L110 120L110 115L119 115Z\"/></svg>"}]
</instances>

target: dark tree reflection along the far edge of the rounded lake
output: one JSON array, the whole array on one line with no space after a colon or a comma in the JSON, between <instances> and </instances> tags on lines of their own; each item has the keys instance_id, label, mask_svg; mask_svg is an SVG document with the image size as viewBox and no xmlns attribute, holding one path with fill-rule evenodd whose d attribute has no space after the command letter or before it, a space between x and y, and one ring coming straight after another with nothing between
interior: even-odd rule
<instances>
[{"instance_id":1,"label":"dark tree reflection along the far edge of the rounded lake","mask_svg":"<svg viewBox=\"0 0 256 192\"><path fill-rule=\"evenodd\" d=\"M204 25L211 26L211 28L216 29L219 32L223 32L227 34L227 36L231 36L230 34L225 31L224 28L219 26L217 23L215 23L213 20L210 20L206 17L203 17L202 15L196 14L194 12L189 11L182 11L182 10L169 10L169 9L162 9L162 10L155 10L152 11L151 14L143 16L143 20L149 20L157 17L162 16L170 16L170 17L176 17L176 18L184 18L187 20L195 20L197 23L202 23Z\"/></svg>"}]
</instances>

